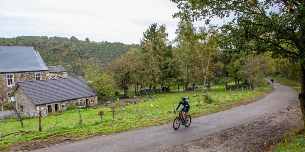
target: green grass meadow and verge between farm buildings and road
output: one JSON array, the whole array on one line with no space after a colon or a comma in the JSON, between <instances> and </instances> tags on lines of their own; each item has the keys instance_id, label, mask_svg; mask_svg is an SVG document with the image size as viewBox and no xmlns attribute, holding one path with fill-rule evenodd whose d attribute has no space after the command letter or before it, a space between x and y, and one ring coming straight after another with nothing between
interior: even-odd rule
<instances>
[{"instance_id":1,"label":"green grass meadow and verge between farm buildings and road","mask_svg":"<svg viewBox=\"0 0 305 152\"><path fill-rule=\"evenodd\" d=\"M62 114L54 114L52 116L42 117L42 132L33 134L6 137L0 141L0 150L9 151L9 146L14 143L39 144L42 142L54 142L63 140L81 140L92 136L117 133L128 130L136 130L147 126L157 126L171 122L176 114L173 109L178 105L181 97L189 96L187 101L190 103L191 110L189 114L192 117L203 116L222 110L230 109L239 105L244 105L250 101L256 101L264 95L271 92L273 88L258 88L253 92L247 93L247 90L233 91L230 97L228 91L209 91L212 98L216 102L206 104L203 102L202 92L178 92L178 93L162 93L157 94L154 99L147 99L147 103L136 104L136 116L134 115L134 105L126 105L125 111L115 112L115 119L111 114L111 105L109 108L81 109L81 117L83 124L77 125L79 122L78 110L62 112ZM193 95L197 95L193 97ZM200 104L198 100L200 99ZM173 107L174 102L174 107ZM159 112L156 111L158 105ZM146 114L146 106L148 114ZM179 109L181 109L180 107ZM139 109L143 109L143 113L139 114ZM99 111L104 111L103 119L98 115ZM30 118L23 120L24 128L20 127L20 122L12 119L7 123L0 124L0 133L8 134L23 130L37 130L38 118ZM53 127L54 126L54 127Z\"/></svg>"}]
</instances>

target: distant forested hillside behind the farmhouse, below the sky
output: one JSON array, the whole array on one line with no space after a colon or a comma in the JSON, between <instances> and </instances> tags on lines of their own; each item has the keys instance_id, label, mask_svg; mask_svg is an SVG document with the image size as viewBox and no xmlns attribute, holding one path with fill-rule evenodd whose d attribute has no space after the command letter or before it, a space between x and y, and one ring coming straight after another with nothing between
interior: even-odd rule
<instances>
[{"instance_id":1,"label":"distant forested hillside behind the farmhouse, below the sky","mask_svg":"<svg viewBox=\"0 0 305 152\"><path fill-rule=\"evenodd\" d=\"M120 58L127 53L129 48L141 49L139 44L123 44L94 42L86 38L85 41L78 40L74 36L70 39L65 37L47 36L18 36L16 38L0 38L0 45L10 46L33 46L38 45L38 51L45 63L50 65L62 65L67 73L73 76L85 77L94 69L95 72L102 72L113 60Z\"/></svg>"}]
</instances>

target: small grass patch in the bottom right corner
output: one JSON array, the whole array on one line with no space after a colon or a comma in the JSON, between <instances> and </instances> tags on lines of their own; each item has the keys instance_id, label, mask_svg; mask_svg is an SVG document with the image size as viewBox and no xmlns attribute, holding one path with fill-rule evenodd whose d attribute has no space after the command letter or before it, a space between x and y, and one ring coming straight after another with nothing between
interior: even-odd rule
<instances>
[{"instance_id":1,"label":"small grass patch in the bottom right corner","mask_svg":"<svg viewBox=\"0 0 305 152\"><path fill-rule=\"evenodd\" d=\"M271 148L270 151L305 151L305 131L296 129L285 134L282 143Z\"/></svg>"}]
</instances>

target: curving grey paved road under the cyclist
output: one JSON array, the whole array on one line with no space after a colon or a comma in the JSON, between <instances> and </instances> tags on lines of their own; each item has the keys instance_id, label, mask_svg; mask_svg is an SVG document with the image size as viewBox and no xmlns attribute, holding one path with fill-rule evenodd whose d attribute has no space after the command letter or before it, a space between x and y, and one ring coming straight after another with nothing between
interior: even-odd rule
<instances>
[{"instance_id":1,"label":"curving grey paved road under the cyclist","mask_svg":"<svg viewBox=\"0 0 305 152\"><path fill-rule=\"evenodd\" d=\"M270 81L269 78L267 78ZM257 102L192 119L186 128L174 130L172 123L63 143L36 151L160 151L221 132L277 112L298 101L298 93L274 82L274 92ZM174 117L173 117L174 119Z\"/></svg>"}]
</instances>

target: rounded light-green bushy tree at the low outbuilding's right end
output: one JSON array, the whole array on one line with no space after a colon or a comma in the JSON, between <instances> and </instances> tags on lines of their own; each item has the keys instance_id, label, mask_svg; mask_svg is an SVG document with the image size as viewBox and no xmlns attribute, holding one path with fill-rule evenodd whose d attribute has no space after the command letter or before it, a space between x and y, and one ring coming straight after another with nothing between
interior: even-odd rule
<instances>
[{"instance_id":1,"label":"rounded light-green bushy tree at the low outbuilding's right end","mask_svg":"<svg viewBox=\"0 0 305 152\"><path fill-rule=\"evenodd\" d=\"M96 93L99 94L100 97L112 97L118 89L117 83L114 78L105 73L100 73L95 77L91 78L91 82L89 82L89 85Z\"/></svg>"}]
</instances>

